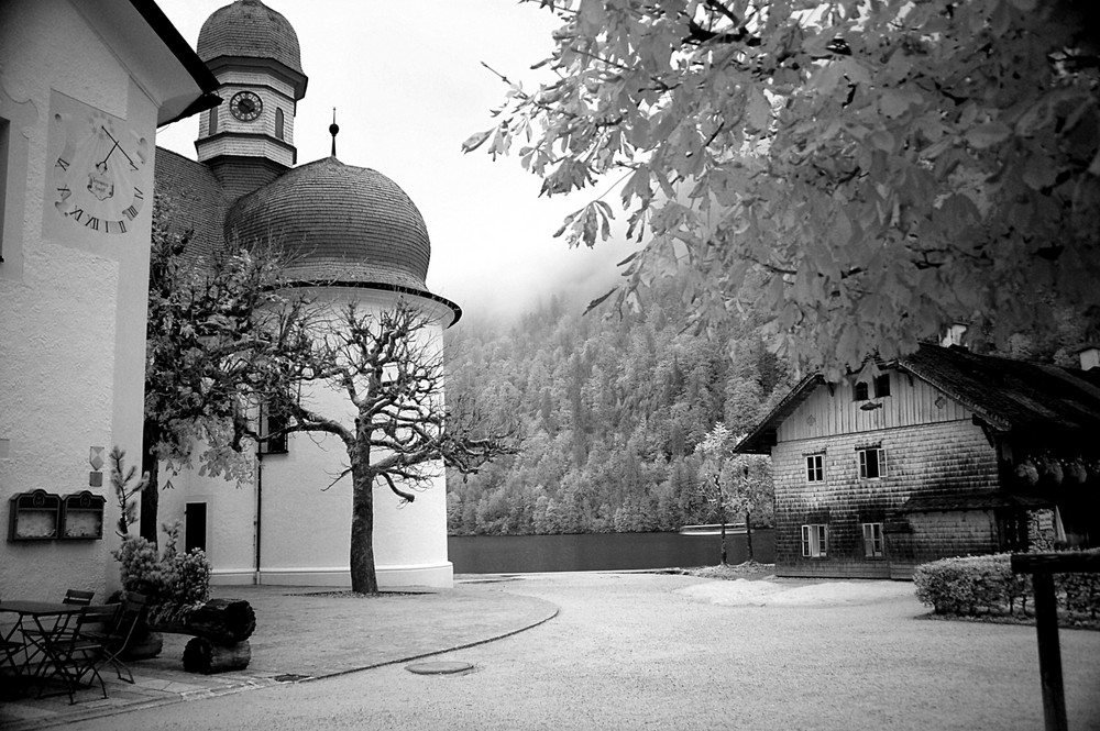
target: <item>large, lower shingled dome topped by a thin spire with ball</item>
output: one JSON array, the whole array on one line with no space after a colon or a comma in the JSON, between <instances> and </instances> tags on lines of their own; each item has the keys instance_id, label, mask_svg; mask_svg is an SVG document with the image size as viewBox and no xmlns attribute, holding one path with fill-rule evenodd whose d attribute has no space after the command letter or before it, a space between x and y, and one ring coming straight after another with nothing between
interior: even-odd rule
<instances>
[{"instance_id":1,"label":"large, lower shingled dome topped by a thin spire with ball","mask_svg":"<svg viewBox=\"0 0 1100 731\"><path fill-rule=\"evenodd\" d=\"M431 244L420 211L386 176L336 157L239 200L226 215L226 237L280 243L299 257L288 272L299 281L429 293Z\"/></svg>"}]
</instances>

